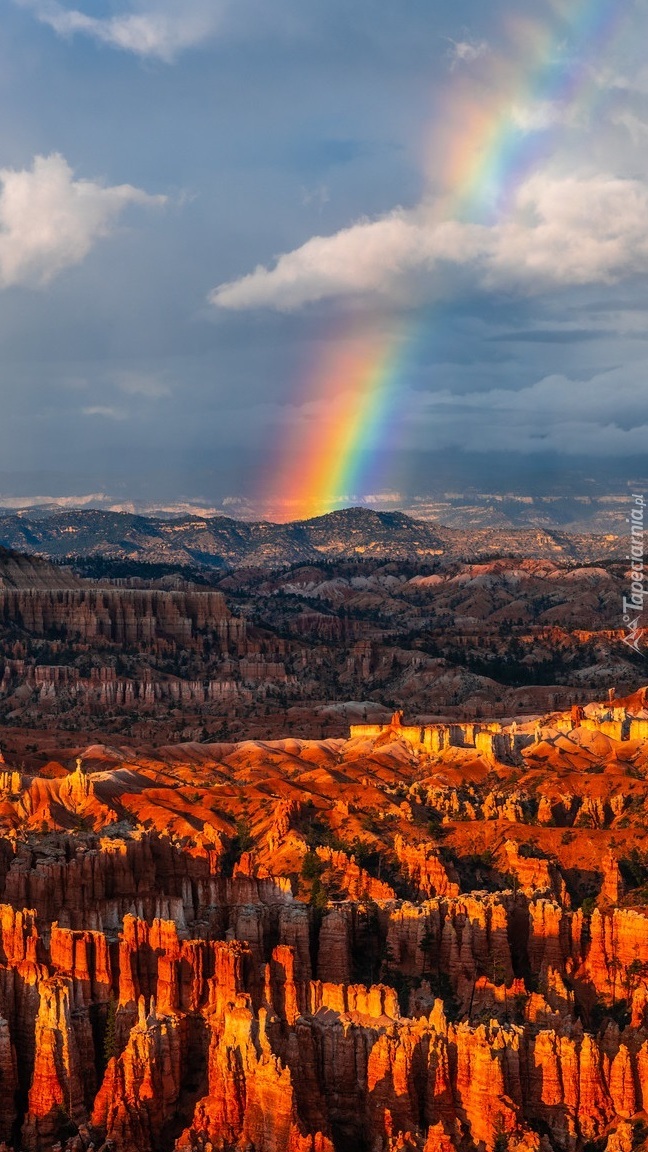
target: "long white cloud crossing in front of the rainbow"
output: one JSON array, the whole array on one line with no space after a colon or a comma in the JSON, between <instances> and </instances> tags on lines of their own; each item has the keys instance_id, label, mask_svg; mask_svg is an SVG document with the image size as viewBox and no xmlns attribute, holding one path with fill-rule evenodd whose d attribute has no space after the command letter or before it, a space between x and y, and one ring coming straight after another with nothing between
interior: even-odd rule
<instances>
[{"instance_id":1,"label":"long white cloud crossing in front of the rainbow","mask_svg":"<svg viewBox=\"0 0 648 1152\"><path fill-rule=\"evenodd\" d=\"M332 236L314 236L220 285L219 308L292 310L331 297L415 301L470 290L527 294L557 286L612 283L648 272L648 188L610 175L536 173L508 215L480 225L439 220L434 205L395 209Z\"/></svg>"}]
</instances>

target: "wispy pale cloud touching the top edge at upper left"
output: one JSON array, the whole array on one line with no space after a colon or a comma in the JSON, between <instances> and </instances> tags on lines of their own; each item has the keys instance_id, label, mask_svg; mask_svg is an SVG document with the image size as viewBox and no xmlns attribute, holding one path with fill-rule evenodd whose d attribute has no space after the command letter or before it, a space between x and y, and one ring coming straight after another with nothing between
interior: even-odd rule
<instances>
[{"instance_id":1,"label":"wispy pale cloud touching the top edge at upper left","mask_svg":"<svg viewBox=\"0 0 648 1152\"><path fill-rule=\"evenodd\" d=\"M134 0L114 16L88 16L58 0L16 0L59 36L89 36L138 56L171 63L186 48L210 39L218 29L225 0Z\"/></svg>"}]
</instances>

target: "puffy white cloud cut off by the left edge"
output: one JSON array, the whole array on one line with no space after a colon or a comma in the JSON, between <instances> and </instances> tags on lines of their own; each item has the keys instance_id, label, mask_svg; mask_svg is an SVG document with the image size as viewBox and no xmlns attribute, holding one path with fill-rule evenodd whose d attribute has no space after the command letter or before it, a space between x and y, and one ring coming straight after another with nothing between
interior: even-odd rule
<instances>
[{"instance_id":1,"label":"puffy white cloud cut off by the left edge","mask_svg":"<svg viewBox=\"0 0 648 1152\"><path fill-rule=\"evenodd\" d=\"M164 204L131 184L75 180L58 153L0 169L0 287L43 287L88 256L129 204Z\"/></svg>"}]
</instances>

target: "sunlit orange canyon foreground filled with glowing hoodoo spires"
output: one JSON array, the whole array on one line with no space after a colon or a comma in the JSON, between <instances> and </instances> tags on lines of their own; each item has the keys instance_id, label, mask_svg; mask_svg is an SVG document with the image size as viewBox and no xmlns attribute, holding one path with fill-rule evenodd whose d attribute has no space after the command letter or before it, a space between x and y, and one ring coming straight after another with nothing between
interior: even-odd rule
<instances>
[{"instance_id":1,"label":"sunlit orange canyon foreground filled with glowing hoodoo spires","mask_svg":"<svg viewBox=\"0 0 648 1152\"><path fill-rule=\"evenodd\" d=\"M646 689L409 719L2 730L0 1146L641 1144Z\"/></svg>"}]
</instances>

